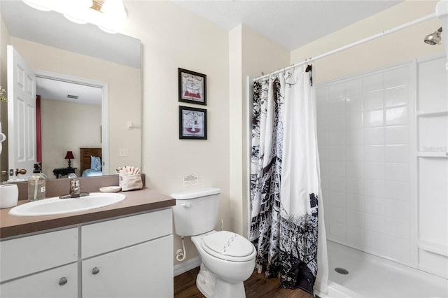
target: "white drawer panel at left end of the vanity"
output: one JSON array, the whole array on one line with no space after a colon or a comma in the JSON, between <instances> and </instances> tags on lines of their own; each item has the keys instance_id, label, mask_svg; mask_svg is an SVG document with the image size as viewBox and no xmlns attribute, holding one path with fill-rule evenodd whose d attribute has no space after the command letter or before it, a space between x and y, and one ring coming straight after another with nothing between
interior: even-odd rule
<instances>
[{"instance_id":1,"label":"white drawer panel at left end of the vanity","mask_svg":"<svg viewBox=\"0 0 448 298\"><path fill-rule=\"evenodd\" d=\"M0 241L0 259L0 281L76 262L78 228Z\"/></svg>"}]
</instances>

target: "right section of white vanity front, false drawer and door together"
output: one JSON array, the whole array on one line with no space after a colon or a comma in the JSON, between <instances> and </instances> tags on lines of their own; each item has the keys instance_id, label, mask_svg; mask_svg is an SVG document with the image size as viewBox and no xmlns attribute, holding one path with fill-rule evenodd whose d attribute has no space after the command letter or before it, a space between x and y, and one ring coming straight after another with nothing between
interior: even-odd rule
<instances>
[{"instance_id":1,"label":"right section of white vanity front, false drawer and door together","mask_svg":"<svg viewBox=\"0 0 448 298\"><path fill-rule=\"evenodd\" d=\"M82 297L173 297L171 208L81 227Z\"/></svg>"}]
</instances>

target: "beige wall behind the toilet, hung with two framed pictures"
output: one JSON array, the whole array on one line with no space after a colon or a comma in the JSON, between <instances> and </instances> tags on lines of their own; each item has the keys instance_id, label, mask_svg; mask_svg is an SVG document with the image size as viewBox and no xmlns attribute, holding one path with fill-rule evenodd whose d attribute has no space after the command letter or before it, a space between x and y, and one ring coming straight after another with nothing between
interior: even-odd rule
<instances>
[{"instance_id":1,"label":"beige wall behind the toilet, hung with two framed pictures","mask_svg":"<svg viewBox=\"0 0 448 298\"><path fill-rule=\"evenodd\" d=\"M169 1L126 1L125 6L125 33L143 45L146 184L165 194L220 187L218 220L223 219L229 229L228 32ZM178 101L178 67L207 75L207 106ZM207 109L207 141L179 140L179 106ZM188 174L199 175L199 185L183 186ZM197 256L190 239L186 246L187 259ZM180 237L174 235L174 252L179 248Z\"/></svg>"}]
</instances>

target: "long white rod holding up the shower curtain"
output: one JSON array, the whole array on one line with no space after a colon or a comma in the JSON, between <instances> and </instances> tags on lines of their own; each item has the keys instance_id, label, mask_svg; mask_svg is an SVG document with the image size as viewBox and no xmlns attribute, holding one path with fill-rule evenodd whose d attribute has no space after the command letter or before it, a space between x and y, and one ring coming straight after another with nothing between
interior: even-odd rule
<instances>
[{"instance_id":1,"label":"long white rod holding up the shower curtain","mask_svg":"<svg viewBox=\"0 0 448 298\"><path fill-rule=\"evenodd\" d=\"M356 45L360 45L360 44L362 44L362 43L367 43L367 41L373 41L374 39L377 39L377 38L379 38L379 37L381 37L381 36L385 36L385 35L391 34L391 33L393 33L393 32L400 31L400 30L405 29L405 28L407 28L407 27L411 27L411 26L413 26L414 24L419 24L419 23L421 23L421 22L425 22L425 21L430 20L430 19L433 19L433 18L435 18L435 17L437 17L436 13L432 13L432 14L430 14L430 15L426 15L425 17L420 17L419 19L413 20L413 21L411 21L411 22L407 22L407 23L405 23L405 24L401 24L401 25L398 26L398 27L395 27L395 28L392 28L392 29L388 29L388 30L386 30L386 31L382 31L382 32L379 33L379 34L374 34L374 35L369 36L369 37L367 37L367 38L361 39L360 41L355 41L354 43L350 43L350 44L348 44L348 45L344 45L344 46L342 46L341 48L337 48L337 49L335 49L335 50L330 50L329 52L325 52L325 53L323 53L323 54L321 54L321 55L318 55L318 56L316 56L316 57L311 57L311 58L309 58L309 59L306 59L305 61L302 61L302 62L293 64L293 65L288 66L288 67L285 67L285 68L283 68L283 69L279 69L278 71L274 71L274 72L272 72L272 73L267 73L267 74L264 75L264 76L259 76L258 78L254 78L253 81L255 82L255 81L257 81L257 80L261 80L262 78L267 78L267 77L269 77L269 76L273 76L273 75L275 75L275 74L277 74L277 73L281 73L282 71L287 71L288 69L293 69L293 68L295 68L295 67L297 67L297 66L301 66L301 65L303 65L303 64L307 64L307 63L310 63L310 62L312 63L312 62L314 62L314 61L316 61L316 60L318 60L318 59L321 59L321 58L323 58L323 57L327 57L327 56L336 54L337 52L342 52L343 50L346 50L346 49L349 49L349 48L353 48L353 47L355 47Z\"/></svg>"}]
</instances>

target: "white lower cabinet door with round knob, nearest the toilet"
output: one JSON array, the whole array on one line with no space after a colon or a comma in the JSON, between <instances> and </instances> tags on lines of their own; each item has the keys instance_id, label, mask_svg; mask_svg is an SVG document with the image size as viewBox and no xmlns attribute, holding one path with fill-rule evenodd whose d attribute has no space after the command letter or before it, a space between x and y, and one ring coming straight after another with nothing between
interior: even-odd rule
<instances>
[{"instance_id":1,"label":"white lower cabinet door with round knob, nearest the toilet","mask_svg":"<svg viewBox=\"0 0 448 298\"><path fill-rule=\"evenodd\" d=\"M173 236L83 260L83 298L173 297Z\"/></svg>"}]
</instances>

